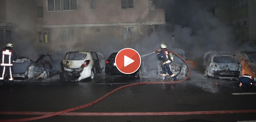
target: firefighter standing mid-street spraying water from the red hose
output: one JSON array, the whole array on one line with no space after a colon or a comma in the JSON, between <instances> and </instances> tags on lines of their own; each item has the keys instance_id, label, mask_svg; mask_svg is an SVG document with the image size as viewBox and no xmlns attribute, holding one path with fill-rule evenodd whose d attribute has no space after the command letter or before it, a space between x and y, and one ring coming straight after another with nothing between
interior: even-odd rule
<instances>
[{"instance_id":1,"label":"firefighter standing mid-street spraying water from the red hose","mask_svg":"<svg viewBox=\"0 0 256 122\"><path fill-rule=\"evenodd\" d=\"M162 67L162 81L165 81L165 79L166 79L166 72L168 72L170 77L174 81L176 81L177 77L171 71L171 62L173 61L173 55L166 48L167 48L167 46L164 43L162 43L161 44L161 49L159 49L158 52L157 52L157 57L159 59L161 59L161 61L163 63L163 67ZM170 55L169 55L169 53L170 53ZM172 81L172 79L171 79L171 81Z\"/></svg>"}]
</instances>

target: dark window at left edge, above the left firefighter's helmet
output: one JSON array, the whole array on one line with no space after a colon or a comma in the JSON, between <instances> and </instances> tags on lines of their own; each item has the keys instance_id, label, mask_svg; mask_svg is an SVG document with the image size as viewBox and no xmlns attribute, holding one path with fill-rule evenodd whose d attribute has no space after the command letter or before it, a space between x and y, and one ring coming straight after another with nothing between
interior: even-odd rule
<instances>
[{"instance_id":1,"label":"dark window at left edge, above the left firefighter's helmet","mask_svg":"<svg viewBox=\"0 0 256 122\"><path fill-rule=\"evenodd\" d=\"M0 43L11 43L11 30L0 29Z\"/></svg>"}]
</instances>

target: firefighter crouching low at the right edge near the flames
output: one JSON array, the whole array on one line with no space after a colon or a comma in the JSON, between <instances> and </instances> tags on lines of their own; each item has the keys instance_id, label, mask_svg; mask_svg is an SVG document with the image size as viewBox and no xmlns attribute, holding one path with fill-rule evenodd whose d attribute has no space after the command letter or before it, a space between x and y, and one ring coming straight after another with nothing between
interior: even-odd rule
<instances>
[{"instance_id":1,"label":"firefighter crouching low at the right edge near the flames","mask_svg":"<svg viewBox=\"0 0 256 122\"><path fill-rule=\"evenodd\" d=\"M243 74L242 76L239 77L239 86L241 88L250 88L250 87L255 87L255 77L248 75L248 74Z\"/></svg>"}]
</instances>

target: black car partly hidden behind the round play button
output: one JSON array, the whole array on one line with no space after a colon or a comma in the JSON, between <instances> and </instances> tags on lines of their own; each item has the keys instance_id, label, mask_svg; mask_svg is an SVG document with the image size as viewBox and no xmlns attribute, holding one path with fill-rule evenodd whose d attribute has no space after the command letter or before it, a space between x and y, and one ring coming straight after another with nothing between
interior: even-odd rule
<instances>
[{"instance_id":1,"label":"black car partly hidden behind the round play button","mask_svg":"<svg viewBox=\"0 0 256 122\"><path fill-rule=\"evenodd\" d=\"M122 72L120 72L117 69L117 66L115 65L115 57L117 56L118 52L112 53L109 58L106 60L106 65L105 65L105 76L106 78L110 78L112 76L130 76L130 77L134 77L136 79L140 78L140 75L143 74L144 72L144 63L143 61L141 61L141 66L139 67L139 69L132 73L132 74L124 74Z\"/></svg>"}]
</instances>

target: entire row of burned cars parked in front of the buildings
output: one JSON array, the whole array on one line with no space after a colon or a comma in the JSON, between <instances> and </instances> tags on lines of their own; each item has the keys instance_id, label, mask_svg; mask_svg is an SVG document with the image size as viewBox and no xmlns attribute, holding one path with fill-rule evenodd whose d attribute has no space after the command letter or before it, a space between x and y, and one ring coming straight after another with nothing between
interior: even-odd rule
<instances>
[{"instance_id":1,"label":"entire row of burned cars parked in front of the buildings","mask_svg":"<svg viewBox=\"0 0 256 122\"><path fill-rule=\"evenodd\" d=\"M131 76L138 79L146 72L147 65L141 58L141 66L138 71L133 74L123 74L115 65L117 53L112 53L107 60L101 53L96 51L70 51L64 55L63 59L53 54L42 54L39 55L35 62L27 57L19 57L13 65L13 77L25 80L46 79L52 75L59 74L60 79L75 79L79 81L86 78L94 80L96 74L105 73L107 79L113 76ZM181 53L178 53L178 55L186 59ZM246 64L255 74L256 52L238 51L234 55L229 52L209 51L201 56L198 68L203 71L206 78L234 79L243 73L240 63L242 60L246 61ZM161 64L160 62L158 64L158 75L162 74ZM188 75L188 67L178 56L174 55L171 69L177 76L186 77Z\"/></svg>"}]
</instances>

